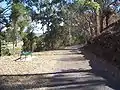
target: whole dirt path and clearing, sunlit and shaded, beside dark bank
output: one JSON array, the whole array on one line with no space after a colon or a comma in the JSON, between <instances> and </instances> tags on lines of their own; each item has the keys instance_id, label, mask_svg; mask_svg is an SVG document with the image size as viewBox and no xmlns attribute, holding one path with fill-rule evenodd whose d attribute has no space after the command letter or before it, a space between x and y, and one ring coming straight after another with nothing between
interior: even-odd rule
<instances>
[{"instance_id":1,"label":"whole dirt path and clearing, sunlit and shaded, beside dark bank","mask_svg":"<svg viewBox=\"0 0 120 90\"><path fill-rule=\"evenodd\" d=\"M0 90L119 90L78 48L34 53L32 61L2 57Z\"/></svg>"}]
</instances>

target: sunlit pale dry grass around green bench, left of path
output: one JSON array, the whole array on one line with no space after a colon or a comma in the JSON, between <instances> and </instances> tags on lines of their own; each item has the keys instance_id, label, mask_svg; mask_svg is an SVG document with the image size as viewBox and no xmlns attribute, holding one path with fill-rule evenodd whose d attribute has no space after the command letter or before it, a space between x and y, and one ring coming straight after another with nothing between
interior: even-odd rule
<instances>
[{"instance_id":1,"label":"sunlit pale dry grass around green bench, left of path","mask_svg":"<svg viewBox=\"0 0 120 90\"><path fill-rule=\"evenodd\" d=\"M32 61L15 61L19 56L5 56L0 60L0 74L34 74L49 72L56 64L54 56L33 55ZM44 68L42 68L44 66ZM49 70L48 70L49 68Z\"/></svg>"}]
</instances>

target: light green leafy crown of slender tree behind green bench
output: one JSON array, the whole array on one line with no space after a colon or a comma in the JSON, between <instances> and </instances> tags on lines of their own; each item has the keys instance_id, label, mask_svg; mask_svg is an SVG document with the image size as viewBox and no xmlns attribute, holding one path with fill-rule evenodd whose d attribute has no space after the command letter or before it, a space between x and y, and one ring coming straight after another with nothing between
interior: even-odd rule
<instances>
[{"instance_id":1,"label":"light green leafy crown of slender tree behind green bench","mask_svg":"<svg viewBox=\"0 0 120 90\"><path fill-rule=\"evenodd\" d=\"M24 27L28 25L28 15L29 9L27 9L23 4L14 3L12 5L11 18L13 24L18 24L21 29L24 29Z\"/></svg>"}]
</instances>

